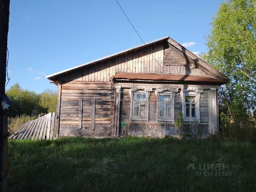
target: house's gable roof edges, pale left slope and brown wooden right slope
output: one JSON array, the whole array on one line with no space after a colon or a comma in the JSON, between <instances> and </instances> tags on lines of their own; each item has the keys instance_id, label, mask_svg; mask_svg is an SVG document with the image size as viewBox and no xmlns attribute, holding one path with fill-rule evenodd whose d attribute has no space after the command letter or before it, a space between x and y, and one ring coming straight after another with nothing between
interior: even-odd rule
<instances>
[{"instance_id":1,"label":"house's gable roof edges, pale left slope and brown wooden right slope","mask_svg":"<svg viewBox=\"0 0 256 192\"><path fill-rule=\"evenodd\" d=\"M156 44L158 42L162 42L162 41L164 41L166 39L167 39L169 47L171 49L173 49L178 55L180 55L181 57L186 59L187 62L194 63L198 68L200 68L202 70L207 70L208 74L213 76L214 78L218 78L218 79L222 79L222 80L228 81L228 78L224 74L222 74L218 70L214 69L208 63L206 63L204 60L202 60L200 57L198 57L195 54L193 54L191 51L189 51L188 49L186 49L185 47L180 45L178 42L176 42L175 40L173 40L169 36L166 36L166 37L163 37L163 38L159 38L159 39L156 39L154 41L147 42L147 43L145 43L145 45L144 44L138 45L138 46L132 47L130 49L119 51L119 52L117 52L115 54L111 54L111 55L102 57L100 59L96 59L96 60L84 63L82 65L78 65L78 66L75 66L75 67L63 70L63 71L59 71L59 72L53 73L51 75L46 76L46 78L49 79L49 80L53 80L56 77L59 77L59 76L61 76L63 74L66 74L66 73L69 73L69 72L72 72L72 71L75 71L77 69L81 69L81 68L83 68L85 66L94 65L96 63L100 63L102 61L111 59L113 57L117 57L117 56L126 54L128 52L135 51L137 49L141 49L141 48L144 48L144 47L148 47L148 46L154 45L154 44Z\"/></svg>"}]
</instances>

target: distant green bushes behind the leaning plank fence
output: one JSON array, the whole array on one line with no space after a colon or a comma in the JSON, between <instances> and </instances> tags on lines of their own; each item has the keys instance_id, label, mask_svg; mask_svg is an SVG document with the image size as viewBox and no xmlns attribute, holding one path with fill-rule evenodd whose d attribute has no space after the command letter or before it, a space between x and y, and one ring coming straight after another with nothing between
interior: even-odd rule
<instances>
[{"instance_id":1,"label":"distant green bushes behind the leaning plank fence","mask_svg":"<svg viewBox=\"0 0 256 192\"><path fill-rule=\"evenodd\" d=\"M34 91L22 89L16 83L6 91L6 95L13 103L8 110L9 117L16 117L23 114L33 117L40 113L56 111L57 92L51 89L37 94Z\"/></svg>"}]
</instances>

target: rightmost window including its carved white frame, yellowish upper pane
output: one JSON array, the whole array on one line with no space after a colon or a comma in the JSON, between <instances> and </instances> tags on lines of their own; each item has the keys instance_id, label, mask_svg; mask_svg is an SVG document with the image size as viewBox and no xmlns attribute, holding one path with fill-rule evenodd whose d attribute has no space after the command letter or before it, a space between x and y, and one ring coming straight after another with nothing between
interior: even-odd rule
<instances>
[{"instance_id":1,"label":"rightmost window including its carved white frame, yellowish upper pane","mask_svg":"<svg viewBox=\"0 0 256 192\"><path fill-rule=\"evenodd\" d=\"M189 87L182 89L182 114L184 121L198 121L200 122L199 100L202 89Z\"/></svg>"}]
</instances>

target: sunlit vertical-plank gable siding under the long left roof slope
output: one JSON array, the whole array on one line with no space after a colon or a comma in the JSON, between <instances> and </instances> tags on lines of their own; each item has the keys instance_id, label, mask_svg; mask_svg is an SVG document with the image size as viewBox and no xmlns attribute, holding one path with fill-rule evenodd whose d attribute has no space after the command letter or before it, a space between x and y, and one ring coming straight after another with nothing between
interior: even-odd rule
<instances>
[{"instance_id":1,"label":"sunlit vertical-plank gable siding under the long left roof slope","mask_svg":"<svg viewBox=\"0 0 256 192\"><path fill-rule=\"evenodd\" d=\"M163 73L163 57L164 45L163 43L158 43L148 48L128 52L104 62L70 72L63 75L61 80L109 82L110 77L118 72Z\"/></svg>"}]
</instances>

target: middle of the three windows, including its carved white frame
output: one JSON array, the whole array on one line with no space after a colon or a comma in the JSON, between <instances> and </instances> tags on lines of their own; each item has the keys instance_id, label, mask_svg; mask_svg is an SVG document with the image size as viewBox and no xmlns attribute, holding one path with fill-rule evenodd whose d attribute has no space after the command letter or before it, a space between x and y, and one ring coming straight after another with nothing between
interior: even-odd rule
<instances>
[{"instance_id":1,"label":"middle of the three windows, including its carved white frame","mask_svg":"<svg viewBox=\"0 0 256 192\"><path fill-rule=\"evenodd\" d=\"M174 100L177 89L162 88L156 89L156 121L167 121L174 123Z\"/></svg>"}]
</instances>

